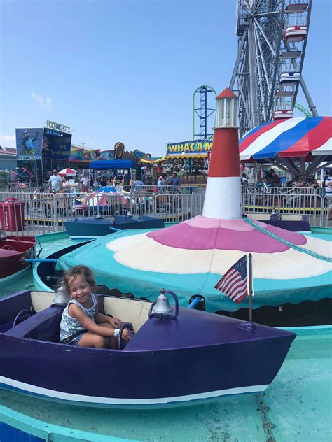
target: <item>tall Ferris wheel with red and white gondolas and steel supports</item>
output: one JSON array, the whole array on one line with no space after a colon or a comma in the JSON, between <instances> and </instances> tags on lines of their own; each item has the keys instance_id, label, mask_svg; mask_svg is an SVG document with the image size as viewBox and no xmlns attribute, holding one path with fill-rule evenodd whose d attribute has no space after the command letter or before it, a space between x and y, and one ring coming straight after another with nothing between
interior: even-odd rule
<instances>
[{"instance_id":1,"label":"tall Ferris wheel with red and white gondolas and steel supports","mask_svg":"<svg viewBox=\"0 0 332 442\"><path fill-rule=\"evenodd\" d=\"M237 0L238 52L230 89L239 96L240 136L264 122L293 117L312 0Z\"/></svg>"}]
</instances>

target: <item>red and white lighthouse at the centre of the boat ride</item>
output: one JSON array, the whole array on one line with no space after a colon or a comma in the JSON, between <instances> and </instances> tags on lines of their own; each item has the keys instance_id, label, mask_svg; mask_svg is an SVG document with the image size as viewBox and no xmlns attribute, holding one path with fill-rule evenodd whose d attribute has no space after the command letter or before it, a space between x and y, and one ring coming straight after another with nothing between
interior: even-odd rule
<instances>
[{"instance_id":1,"label":"red and white lighthouse at the centre of the boat ride","mask_svg":"<svg viewBox=\"0 0 332 442\"><path fill-rule=\"evenodd\" d=\"M202 215L242 218L237 96L228 88L216 97L216 126Z\"/></svg>"}]
</instances>

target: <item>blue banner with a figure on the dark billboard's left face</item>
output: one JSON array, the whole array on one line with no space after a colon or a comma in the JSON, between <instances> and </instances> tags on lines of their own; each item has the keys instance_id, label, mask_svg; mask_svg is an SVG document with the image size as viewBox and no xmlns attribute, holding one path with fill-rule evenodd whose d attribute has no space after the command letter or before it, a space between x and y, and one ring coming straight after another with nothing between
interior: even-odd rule
<instances>
[{"instance_id":1,"label":"blue banner with a figure on the dark billboard's left face","mask_svg":"<svg viewBox=\"0 0 332 442\"><path fill-rule=\"evenodd\" d=\"M16 152L19 160L41 159L43 128L15 129Z\"/></svg>"}]
</instances>

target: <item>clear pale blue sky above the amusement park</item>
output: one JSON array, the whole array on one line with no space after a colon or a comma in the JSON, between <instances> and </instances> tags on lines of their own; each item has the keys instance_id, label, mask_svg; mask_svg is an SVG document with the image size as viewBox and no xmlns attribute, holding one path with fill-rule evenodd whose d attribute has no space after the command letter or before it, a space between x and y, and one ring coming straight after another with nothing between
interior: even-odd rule
<instances>
[{"instance_id":1,"label":"clear pale blue sky above the amusement park","mask_svg":"<svg viewBox=\"0 0 332 442\"><path fill-rule=\"evenodd\" d=\"M314 0L303 76L331 115L331 0ZM237 55L235 0L0 2L0 144L46 120L72 142L117 141L163 155L192 138L200 85L228 86ZM301 94L298 103L307 107Z\"/></svg>"}]
</instances>

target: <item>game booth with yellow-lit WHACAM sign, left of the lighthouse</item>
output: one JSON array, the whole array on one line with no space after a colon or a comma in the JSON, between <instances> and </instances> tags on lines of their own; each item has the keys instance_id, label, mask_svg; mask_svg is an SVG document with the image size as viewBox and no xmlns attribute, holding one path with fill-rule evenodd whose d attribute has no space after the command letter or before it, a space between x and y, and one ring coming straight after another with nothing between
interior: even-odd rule
<instances>
[{"instance_id":1,"label":"game booth with yellow-lit WHACAM sign, left of the lighthouse","mask_svg":"<svg viewBox=\"0 0 332 442\"><path fill-rule=\"evenodd\" d=\"M212 140L191 140L168 143L166 155L160 158L141 159L141 164L171 169L179 174L182 184L206 183L209 155L212 151Z\"/></svg>"}]
</instances>

